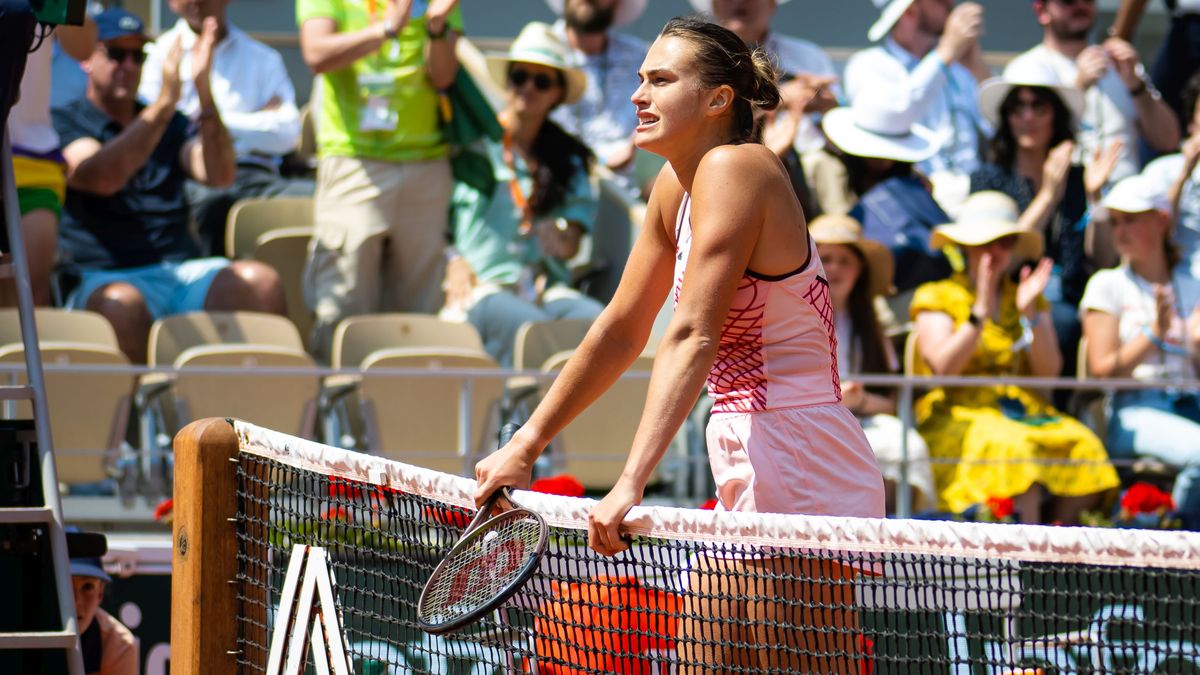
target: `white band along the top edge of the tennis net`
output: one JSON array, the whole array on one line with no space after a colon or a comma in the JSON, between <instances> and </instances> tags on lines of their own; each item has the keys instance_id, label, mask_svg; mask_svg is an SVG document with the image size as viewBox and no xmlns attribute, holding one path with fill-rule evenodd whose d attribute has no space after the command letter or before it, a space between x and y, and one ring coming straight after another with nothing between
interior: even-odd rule
<instances>
[{"instance_id":1,"label":"white band along the top edge of the tennis net","mask_svg":"<svg viewBox=\"0 0 1200 675\"><path fill-rule=\"evenodd\" d=\"M240 452L474 509L475 482L233 420ZM515 491L552 527L587 530L594 500ZM634 507L636 537L754 546L1200 569L1200 533Z\"/></svg>"}]
</instances>

